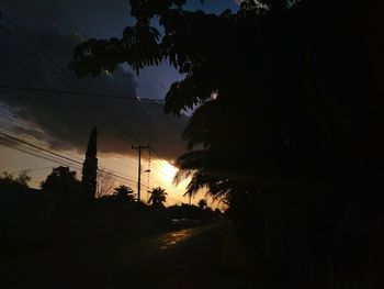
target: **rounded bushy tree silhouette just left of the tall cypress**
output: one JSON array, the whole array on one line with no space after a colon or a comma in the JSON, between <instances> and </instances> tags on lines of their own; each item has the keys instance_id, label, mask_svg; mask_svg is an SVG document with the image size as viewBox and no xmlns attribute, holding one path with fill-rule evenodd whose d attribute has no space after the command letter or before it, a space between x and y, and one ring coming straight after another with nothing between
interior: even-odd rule
<instances>
[{"instance_id":1,"label":"rounded bushy tree silhouette just left of the tall cypress","mask_svg":"<svg viewBox=\"0 0 384 289\"><path fill-rule=\"evenodd\" d=\"M45 180L41 182L44 192L56 196L59 201L74 202L80 197L81 184L76 178L76 171L69 167L56 167Z\"/></svg>"}]
</instances>

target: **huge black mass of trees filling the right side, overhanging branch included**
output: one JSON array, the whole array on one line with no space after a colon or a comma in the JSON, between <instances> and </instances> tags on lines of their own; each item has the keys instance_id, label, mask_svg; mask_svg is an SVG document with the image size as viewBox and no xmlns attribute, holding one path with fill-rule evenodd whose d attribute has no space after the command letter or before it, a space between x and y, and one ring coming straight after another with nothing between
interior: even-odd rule
<instances>
[{"instance_id":1,"label":"huge black mass of trees filling the right side, overhanging branch included","mask_svg":"<svg viewBox=\"0 0 384 289\"><path fill-rule=\"evenodd\" d=\"M177 160L176 180L192 177L187 193L227 197L240 231L264 240L260 267L286 287L368 288L369 274L353 273L374 253L347 257L370 252L384 218L381 1L246 0L218 15L184 3L132 0L135 25L82 43L70 68L83 77L169 62L184 78L165 111L194 110L183 134L192 152ZM347 267L350 277L337 269Z\"/></svg>"}]
</instances>

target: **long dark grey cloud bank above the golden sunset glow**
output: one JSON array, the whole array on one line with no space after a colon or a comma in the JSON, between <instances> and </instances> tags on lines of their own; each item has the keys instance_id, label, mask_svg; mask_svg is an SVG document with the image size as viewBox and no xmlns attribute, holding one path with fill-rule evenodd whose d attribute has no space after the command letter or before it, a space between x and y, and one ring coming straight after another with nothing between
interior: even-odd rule
<instances>
[{"instance_id":1,"label":"long dark grey cloud bank above the golden sunset glow","mask_svg":"<svg viewBox=\"0 0 384 289\"><path fill-rule=\"evenodd\" d=\"M27 34L61 67L68 65L74 47L83 41L79 34L60 34L47 30L30 30ZM86 90L127 98L137 95L135 77L126 69L120 68L112 75L104 74L99 78L77 80L68 76L67 71L58 71L30 44L25 43L24 46L30 52L5 35L0 38L1 84ZM99 151L102 153L135 154L131 145L138 142L149 143L158 155L168 159L176 158L184 151L180 135L188 118L163 114L161 103L4 89L0 90L0 101L15 118L33 123L38 129L10 123L13 131L45 141L56 149L83 153L88 135L92 126L97 125Z\"/></svg>"}]
</instances>

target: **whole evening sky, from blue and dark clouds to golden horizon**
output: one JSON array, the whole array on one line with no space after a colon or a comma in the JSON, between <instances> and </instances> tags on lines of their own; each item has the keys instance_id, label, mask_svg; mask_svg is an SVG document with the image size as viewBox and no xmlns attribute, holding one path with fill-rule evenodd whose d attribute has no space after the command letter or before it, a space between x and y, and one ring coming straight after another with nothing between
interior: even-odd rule
<instances>
[{"instance_id":1,"label":"whole evening sky, from blue and dark clouds to golden horizon","mask_svg":"<svg viewBox=\"0 0 384 289\"><path fill-rule=\"evenodd\" d=\"M225 9L234 11L238 5L235 0L211 0L204 5L200 0L191 0L188 9L219 13ZM150 168L149 182L148 174L143 173L143 186L166 188L168 204L187 202L182 197L187 182L178 188L171 185L176 173L171 164L185 152L180 135L188 116L163 114L161 102L128 100L163 99L170 85L182 76L167 64L145 68L139 76L121 67L111 75L80 80L67 70L77 44L91 37L121 37L124 27L134 23L128 0L1 0L0 10L24 33L0 20L0 86L13 87L0 89L0 133L82 163L88 136L98 126L99 168L123 176L125 179L116 179L115 184L135 190L137 152L132 145L149 144L153 152L145 151L142 162L144 170ZM127 99L14 88L87 91ZM29 154L22 152L25 151L22 146L15 146L9 138L0 138L0 171L30 169L32 187L37 188L52 168L59 165L57 160L43 159L41 154L31 155L31 146ZM66 165L63 160L60 164ZM81 166L70 163L70 167L80 178ZM143 200L146 190L147 187L142 188ZM196 196L194 202L200 198L204 194Z\"/></svg>"}]
</instances>

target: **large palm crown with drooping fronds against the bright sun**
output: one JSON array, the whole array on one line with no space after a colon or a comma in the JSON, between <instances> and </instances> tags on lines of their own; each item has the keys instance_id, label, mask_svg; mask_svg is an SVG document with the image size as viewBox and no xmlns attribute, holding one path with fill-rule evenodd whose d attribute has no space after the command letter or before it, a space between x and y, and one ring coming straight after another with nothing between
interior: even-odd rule
<instances>
[{"instance_id":1,"label":"large palm crown with drooping fronds against the bright sun","mask_svg":"<svg viewBox=\"0 0 384 289\"><path fill-rule=\"evenodd\" d=\"M207 101L194 111L182 135L190 152L176 160L179 170L173 179L178 185L190 178L184 196L194 196L205 188L214 199L229 198L238 175L225 149L230 137L229 125L223 123L229 113L223 113L223 105L217 101ZM233 154L234 149L230 152Z\"/></svg>"}]
</instances>

